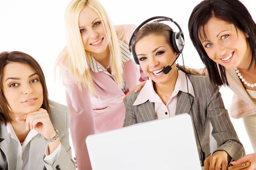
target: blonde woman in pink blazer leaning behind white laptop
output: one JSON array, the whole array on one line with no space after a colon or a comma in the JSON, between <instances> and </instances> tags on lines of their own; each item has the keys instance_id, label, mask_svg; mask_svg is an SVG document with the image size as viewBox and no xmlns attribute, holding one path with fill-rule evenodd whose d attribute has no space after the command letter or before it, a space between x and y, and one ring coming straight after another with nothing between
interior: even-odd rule
<instances>
[{"instance_id":1,"label":"blonde woman in pink blazer leaning behind white laptop","mask_svg":"<svg viewBox=\"0 0 256 170\"><path fill-rule=\"evenodd\" d=\"M135 26L114 27L98 0L71 1L65 20L67 47L57 63L71 114L77 165L89 170L85 138L122 127L122 99L139 83L139 68L130 60L127 45Z\"/></svg>"}]
</instances>

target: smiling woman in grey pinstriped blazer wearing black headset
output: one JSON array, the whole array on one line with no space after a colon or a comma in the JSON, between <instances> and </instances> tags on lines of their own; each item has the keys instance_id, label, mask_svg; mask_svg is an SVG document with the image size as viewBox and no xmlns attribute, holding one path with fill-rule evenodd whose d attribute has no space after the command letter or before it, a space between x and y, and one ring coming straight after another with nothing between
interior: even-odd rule
<instances>
[{"instance_id":1,"label":"smiling woman in grey pinstriped blazer wearing black headset","mask_svg":"<svg viewBox=\"0 0 256 170\"><path fill-rule=\"evenodd\" d=\"M171 20L167 17L155 19ZM176 68L175 60L183 48L181 30L174 33L166 24L147 23L151 20L143 22L130 41L134 61L149 80L138 93L132 92L125 99L123 126L189 113L198 133L198 153L208 156L204 161L205 170L224 170L231 158L237 160L244 155L244 148L224 108L218 87L208 77L186 75ZM209 146L210 122L218 145L213 155L210 155ZM200 159L203 162L204 158Z\"/></svg>"}]
</instances>

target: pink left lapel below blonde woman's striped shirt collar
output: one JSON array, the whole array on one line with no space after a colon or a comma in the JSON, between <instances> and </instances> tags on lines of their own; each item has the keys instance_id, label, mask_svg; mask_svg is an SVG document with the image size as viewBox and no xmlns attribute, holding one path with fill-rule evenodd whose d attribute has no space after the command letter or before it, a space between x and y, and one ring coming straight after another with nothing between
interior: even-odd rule
<instances>
[{"instance_id":1,"label":"pink left lapel below blonde woman's striped shirt collar","mask_svg":"<svg viewBox=\"0 0 256 170\"><path fill-rule=\"evenodd\" d=\"M118 87L117 83L103 71L93 72L90 70L94 83L100 86L102 89L109 91L113 94L124 95L122 90Z\"/></svg>"}]
</instances>

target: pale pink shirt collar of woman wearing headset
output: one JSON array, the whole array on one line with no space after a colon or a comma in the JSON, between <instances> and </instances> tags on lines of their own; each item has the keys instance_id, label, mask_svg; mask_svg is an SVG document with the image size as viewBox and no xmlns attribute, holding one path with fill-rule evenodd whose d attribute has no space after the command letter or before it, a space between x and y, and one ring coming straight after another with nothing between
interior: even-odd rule
<instances>
[{"instance_id":1,"label":"pale pink shirt collar of woman wearing headset","mask_svg":"<svg viewBox=\"0 0 256 170\"><path fill-rule=\"evenodd\" d=\"M189 78L187 78L187 80L188 80L189 94L191 94L192 96L195 97L193 85L190 82ZM174 92L175 91L177 91L177 92L183 91L183 92L187 93L188 89L187 89L187 83L186 83L186 74L183 71L178 70L178 76L177 76L177 81L176 81L176 84L174 87ZM135 100L135 102L133 103L133 105L139 105L139 104L142 104L147 101L155 102L156 99L158 100L158 98L159 98L159 97L157 98L156 96L158 96L158 94L154 90L152 80L149 79L149 80L147 80L145 85L140 90L138 97Z\"/></svg>"}]
</instances>

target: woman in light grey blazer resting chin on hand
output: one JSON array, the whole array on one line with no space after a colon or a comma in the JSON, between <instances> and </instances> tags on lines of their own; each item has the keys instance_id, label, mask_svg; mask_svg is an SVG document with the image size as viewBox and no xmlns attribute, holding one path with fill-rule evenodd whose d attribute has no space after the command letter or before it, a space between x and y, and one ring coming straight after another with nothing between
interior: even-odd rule
<instances>
[{"instance_id":1,"label":"woman in light grey blazer resting chin on hand","mask_svg":"<svg viewBox=\"0 0 256 170\"><path fill-rule=\"evenodd\" d=\"M1 52L0 92L0 169L74 170L68 110L48 100L37 61Z\"/></svg>"}]
</instances>

